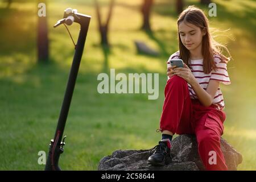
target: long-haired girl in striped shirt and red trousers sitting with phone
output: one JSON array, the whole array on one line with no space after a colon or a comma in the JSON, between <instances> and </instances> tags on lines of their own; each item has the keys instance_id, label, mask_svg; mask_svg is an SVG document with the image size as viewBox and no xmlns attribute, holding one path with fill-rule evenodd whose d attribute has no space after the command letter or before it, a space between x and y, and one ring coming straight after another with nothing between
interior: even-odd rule
<instances>
[{"instance_id":1,"label":"long-haired girl in striped shirt and red trousers sitting with phone","mask_svg":"<svg viewBox=\"0 0 256 182\"><path fill-rule=\"evenodd\" d=\"M177 26L179 51L172 54L168 62L182 59L184 68L167 68L159 129L162 140L154 147L148 163L164 165L175 133L195 134L205 168L227 170L220 148L226 115L219 87L220 82L231 83L226 67L229 58L220 51L220 47L226 47L213 40L207 17L195 6L189 6L179 15Z\"/></svg>"}]
</instances>

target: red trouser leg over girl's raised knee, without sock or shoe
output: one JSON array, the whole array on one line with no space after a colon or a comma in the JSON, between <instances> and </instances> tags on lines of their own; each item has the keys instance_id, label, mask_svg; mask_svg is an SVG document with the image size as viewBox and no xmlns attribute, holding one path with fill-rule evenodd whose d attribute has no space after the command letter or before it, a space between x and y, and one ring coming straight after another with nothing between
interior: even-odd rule
<instances>
[{"instance_id":1,"label":"red trouser leg over girl's raised knee, without sock or shoe","mask_svg":"<svg viewBox=\"0 0 256 182\"><path fill-rule=\"evenodd\" d=\"M188 84L179 76L171 77L164 89L164 104L160 118L162 133L192 134L192 102L189 96Z\"/></svg>"}]
</instances>

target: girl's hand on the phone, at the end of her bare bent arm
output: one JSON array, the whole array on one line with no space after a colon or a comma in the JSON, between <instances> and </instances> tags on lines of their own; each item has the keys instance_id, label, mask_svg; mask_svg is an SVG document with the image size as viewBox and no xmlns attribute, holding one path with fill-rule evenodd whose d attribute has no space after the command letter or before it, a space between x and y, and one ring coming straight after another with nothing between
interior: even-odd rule
<instances>
[{"instance_id":1,"label":"girl's hand on the phone, at the end of her bare bent arm","mask_svg":"<svg viewBox=\"0 0 256 182\"><path fill-rule=\"evenodd\" d=\"M193 76L191 70L187 66L187 64L183 64L184 68L174 68L174 75L180 76L185 81L188 82L188 84L192 84L196 80L196 78Z\"/></svg>"}]
</instances>

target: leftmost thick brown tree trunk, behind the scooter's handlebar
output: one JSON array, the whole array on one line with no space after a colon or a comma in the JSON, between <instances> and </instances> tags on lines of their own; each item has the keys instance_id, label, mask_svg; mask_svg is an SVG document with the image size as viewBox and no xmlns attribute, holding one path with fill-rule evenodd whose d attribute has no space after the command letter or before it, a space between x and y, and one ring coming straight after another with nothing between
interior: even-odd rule
<instances>
[{"instance_id":1,"label":"leftmost thick brown tree trunk, behind the scooter's handlebar","mask_svg":"<svg viewBox=\"0 0 256 182\"><path fill-rule=\"evenodd\" d=\"M49 40L46 16L46 0L39 1L38 7L38 61L47 61L49 57Z\"/></svg>"}]
</instances>

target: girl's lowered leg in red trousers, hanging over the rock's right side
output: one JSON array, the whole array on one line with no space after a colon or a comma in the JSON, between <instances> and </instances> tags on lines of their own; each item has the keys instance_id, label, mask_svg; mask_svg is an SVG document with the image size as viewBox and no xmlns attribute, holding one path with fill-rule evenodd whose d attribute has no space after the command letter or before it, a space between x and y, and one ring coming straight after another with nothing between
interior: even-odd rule
<instances>
[{"instance_id":1,"label":"girl's lowered leg in red trousers, hanging over the rock's right side","mask_svg":"<svg viewBox=\"0 0 256 182\"><path fill-rule=\"evenodd\" d=\"M200 158L207 170L228 170L220 147L223 125L218 115L208 112L196 121L196 138Z\"/></svg>"}]
</instances>

